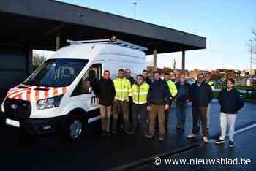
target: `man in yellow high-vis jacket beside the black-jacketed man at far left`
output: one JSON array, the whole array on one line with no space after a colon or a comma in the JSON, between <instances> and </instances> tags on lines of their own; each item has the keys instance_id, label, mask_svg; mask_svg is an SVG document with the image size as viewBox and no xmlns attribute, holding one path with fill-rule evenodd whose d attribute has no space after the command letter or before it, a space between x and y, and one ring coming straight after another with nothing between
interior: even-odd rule
<instances>
[{"instance_id":1,"label":"man in yellow high-vis jacket beside the black-jacketed man at far left","mask_svg":"<svg viewBox=\"0 0 256 171\"><path fill-rule=\"evenodd\" d=\"M116 96L114 99L113 134L116 134L119 109L123 112L124 134L129 134L129 96L132 96L131 83L124 77L124 70L118 70L118 77L113 80Z\"/></svg>"}]
</instances>

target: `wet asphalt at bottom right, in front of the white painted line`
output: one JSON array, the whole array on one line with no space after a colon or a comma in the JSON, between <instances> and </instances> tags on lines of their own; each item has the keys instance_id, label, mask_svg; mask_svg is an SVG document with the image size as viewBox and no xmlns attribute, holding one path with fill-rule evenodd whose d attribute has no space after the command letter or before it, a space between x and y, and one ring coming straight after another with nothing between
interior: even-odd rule
<instances>
[{"instance_id":1,"label":"wet asphalt at bottom right, in front of the white painted line","mask_svg":"<svg viewBox=\"0 0 256 171\"><path fill-rule=\"evenodd\" d=\"M162 164L155 166L154 164L145 164L142 167L136 168L140 171L148 170L256 170L256 127L248 129L244 132L240 132L235 135L236 140L233 148L228 147L228 140L226 139L225 145L215 145L214 142L210 142L208 145L200 145L197 148L192 148L189 151L178 153L173 156L167 156L165 159L186 159L185 165L181 163L177 164L165 164L165 160L162 159ZM189 163L189 159L222 159L220 164L194 164ZM237 164L225 164L225 159L234 159ZM198 161L198 160L197 160ZM204 161L206 163L206 161ZM193 164L193 163L192 163Z\"/></svg>"}]
</instances>

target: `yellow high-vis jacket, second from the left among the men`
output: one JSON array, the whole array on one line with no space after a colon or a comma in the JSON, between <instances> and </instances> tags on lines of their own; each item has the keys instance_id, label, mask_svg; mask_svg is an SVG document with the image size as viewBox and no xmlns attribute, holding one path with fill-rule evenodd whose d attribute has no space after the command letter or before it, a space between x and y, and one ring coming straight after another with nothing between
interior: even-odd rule
<instances>
[{"instance_id":1,"label":"yellow high-vis jacket, second from the left among the men","mask_svg":"<svg viewBox=\"0 0 256 171\"><path fill-rule=\"evenodd\" d=\"M132 102L135 104L146 104L148 96L149 85L143 82L138 86L137 84L132 85Z\"/></svg>"}]
</instances>

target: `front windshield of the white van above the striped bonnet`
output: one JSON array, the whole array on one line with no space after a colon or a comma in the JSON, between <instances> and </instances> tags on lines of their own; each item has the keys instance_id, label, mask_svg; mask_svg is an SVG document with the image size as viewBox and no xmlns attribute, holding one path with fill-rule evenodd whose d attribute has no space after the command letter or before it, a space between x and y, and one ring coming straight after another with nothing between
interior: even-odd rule
<instances>
[{"instance_id":1,"label":"front windshield of the white van above the striped bonnet","mask_svg":"<svg viewBox=\"0 0 256 171\"><path fill-rule=\"evenodd\" d=\"M89 62L87 59L49 59L25 83L31 86L69 86Z\"/></svg>"}]
</instances>

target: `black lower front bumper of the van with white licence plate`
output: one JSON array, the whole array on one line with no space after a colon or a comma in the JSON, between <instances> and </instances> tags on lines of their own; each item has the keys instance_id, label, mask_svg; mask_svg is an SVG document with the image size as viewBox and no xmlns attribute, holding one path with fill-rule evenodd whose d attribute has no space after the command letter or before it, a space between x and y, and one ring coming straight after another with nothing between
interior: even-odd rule
<instances>
[{"instance_id":1,"label":"black lower front bumper of the van with white licence plate","mask_svg":"<svg viewBox=\"0 0 256 171\"><path fill-rule=\"evenodd\" d=\"M66 116L54 118L26 118L23 120L7 118L5 115L3 116L4 123L6 123L6 125L24 129L30 134L47 134L56 132L59 128L64 126L66 121Z\"/></svg>"}]
</instances>

